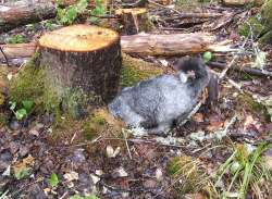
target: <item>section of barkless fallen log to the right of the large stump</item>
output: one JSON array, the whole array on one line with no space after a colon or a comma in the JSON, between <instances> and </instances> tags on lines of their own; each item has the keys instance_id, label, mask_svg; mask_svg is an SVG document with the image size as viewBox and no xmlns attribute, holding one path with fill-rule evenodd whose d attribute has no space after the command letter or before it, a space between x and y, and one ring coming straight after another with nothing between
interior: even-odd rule
<instances>
[{"instance_id":1,"label":"section of barkless fallen log to the right of the large stump","mask_svg":"<svg viewBox=\"0 0 272 199\"><path fill-rule=\"evenodd\" d=\"M148 55L181 55L205 52L215 42L215 37L205 33L171 35L122 36L122 50L126 53Z\"/></svg>"}]
</instances>

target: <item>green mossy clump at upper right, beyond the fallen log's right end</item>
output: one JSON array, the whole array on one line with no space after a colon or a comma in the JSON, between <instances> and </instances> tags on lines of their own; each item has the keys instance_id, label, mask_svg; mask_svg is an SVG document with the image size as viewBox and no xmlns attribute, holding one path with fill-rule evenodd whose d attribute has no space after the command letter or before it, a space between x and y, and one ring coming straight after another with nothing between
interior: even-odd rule
<instances>
[{"instance_id":1,"label":"green mossy clump at upper right, beyond the fallen log's right end","mask_svg":"<svg viewBox=\"0 0 272 199\"><path fill-rule=\"evenodd\" d=\"M251 34L250 27L255 37L260 36L264 30L264 26L262 25L261 17L259 15L249 17L245 24L240 25L238 27L239 35L247 37L249 34Z\"/></svg>"}]
</instances>

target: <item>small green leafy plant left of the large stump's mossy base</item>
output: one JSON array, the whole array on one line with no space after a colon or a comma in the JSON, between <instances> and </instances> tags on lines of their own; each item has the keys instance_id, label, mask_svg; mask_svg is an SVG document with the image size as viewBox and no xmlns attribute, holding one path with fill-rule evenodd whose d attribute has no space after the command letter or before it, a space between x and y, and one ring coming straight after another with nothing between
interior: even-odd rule
<instances>
[{"instance_id":1,"label":"small green leafy plant left of the large stump's mossy base","mask_svg":"<svg viewBox=\"0 0 272 199\"><path fill-rule=\"evenodd\" d=\"M10 110L14 113L16 119L20 121L30 112L33 104L34 104L33 101L24 100L24 101L22 101L22 108L16 109L17 102L10 101Z\"/></svg>"}]
</instances>

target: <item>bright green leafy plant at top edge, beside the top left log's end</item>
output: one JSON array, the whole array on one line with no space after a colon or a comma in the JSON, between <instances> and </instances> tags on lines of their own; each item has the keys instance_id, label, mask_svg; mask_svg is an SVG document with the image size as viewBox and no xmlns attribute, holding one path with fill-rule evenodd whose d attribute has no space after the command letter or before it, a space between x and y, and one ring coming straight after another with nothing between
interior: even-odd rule
<instances>
[{"instance_id":1,"label":"bright green leafy plant at top edge, beside the top left log's end","mask_svg":"<svg viewBox=\"0 0 272 199\"><path fill-rule=\"evenodd\" d=\"M78 14L86 12L88 5L87 0L79 0L77 3L70 5L65 9L61 9L60 4L57 4L57 20L62 25L71 25L75 22Z\"/></svg>"}]
</instances>

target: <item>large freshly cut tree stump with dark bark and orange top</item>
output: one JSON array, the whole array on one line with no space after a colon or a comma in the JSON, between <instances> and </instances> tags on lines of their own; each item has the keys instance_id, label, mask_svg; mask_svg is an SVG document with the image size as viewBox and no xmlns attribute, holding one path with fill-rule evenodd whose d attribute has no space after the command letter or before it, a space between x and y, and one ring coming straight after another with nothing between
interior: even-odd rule
<instances>
[{"instance_id":1,"label":"large freshly cut tree stump with dark bark and orange top","mask_svg":"<svg viewBox=\"0 0 272 199\"><path fill-rule=\"evenodd\" d=\"M72 88L104 102L116 95L122 64L116 32L73 25L46 33L38 47L38 64L57 92Z\"/></svg>"}]
</instances>

